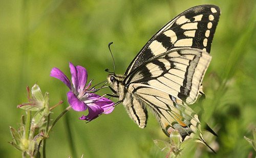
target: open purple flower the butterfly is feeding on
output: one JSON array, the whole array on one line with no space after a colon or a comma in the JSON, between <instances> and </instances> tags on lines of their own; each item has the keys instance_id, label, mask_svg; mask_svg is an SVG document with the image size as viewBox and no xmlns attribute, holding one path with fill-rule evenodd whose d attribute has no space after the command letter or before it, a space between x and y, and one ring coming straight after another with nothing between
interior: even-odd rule
<instances>
[{"instance_id":1,"label":"open purple flower the butterfly is feeding on","mask_svg":"<svg viewBox=\"0 0 256 158\"><path fill-rule=\"evenodd\" d=\"M114 109L114 102L92 93L92 89L89 89L92 80L86 85L87 70L79 65L74 66L71 62L69 67L73 86L68 77L56 67L52 69L50 76L61 80L69 87L70 91L67 93L68 101L74 110L84 111L88 108L89 114L87 116L83 115L79 119L91 121L96 119L102 112L110 114Z\"/></svg>"}]
</instances>

